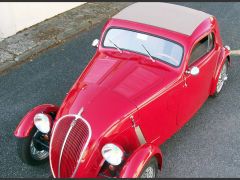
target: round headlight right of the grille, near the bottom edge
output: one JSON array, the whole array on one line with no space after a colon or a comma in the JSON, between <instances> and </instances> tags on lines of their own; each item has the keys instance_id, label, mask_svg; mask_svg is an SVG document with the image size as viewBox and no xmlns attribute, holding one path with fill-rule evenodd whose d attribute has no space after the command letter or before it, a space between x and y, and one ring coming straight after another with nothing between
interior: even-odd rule
<instances>
[{"instance_id":1,"label":"round headlight right of the grille, near the bottom edge","mask_svg":"<svg viewBox=\"0 0 240 180\"><path fill-rule=\"evenodd\" d=\"M119 146L110 143L103 146L102 156L109 164L117 166L122 162L123 151Z\"/></svg>"}]
</instances>

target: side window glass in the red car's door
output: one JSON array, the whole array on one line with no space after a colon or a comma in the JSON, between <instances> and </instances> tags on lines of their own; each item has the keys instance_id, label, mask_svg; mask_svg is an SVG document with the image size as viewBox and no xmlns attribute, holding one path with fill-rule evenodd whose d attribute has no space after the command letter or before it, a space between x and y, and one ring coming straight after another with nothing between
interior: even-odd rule
<instances>
[{"instance_id":1,"label":"side window glass in the red car's door","mask_svg":"<svg viewBox=\"0 0 240 180\"><path fill-rule=\"evenodd\" d=\"M193 48L188 64L191 65L199 58L206 55L214 47L214 34L210 33L203 39L201 39Z\"/></svg>"}]
</instances>

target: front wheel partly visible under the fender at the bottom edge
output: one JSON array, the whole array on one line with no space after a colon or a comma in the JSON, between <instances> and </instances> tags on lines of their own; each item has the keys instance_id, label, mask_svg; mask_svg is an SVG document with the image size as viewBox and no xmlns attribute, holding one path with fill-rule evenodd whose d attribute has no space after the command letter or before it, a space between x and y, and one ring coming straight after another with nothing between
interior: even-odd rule
<instances>
[{"instance_id":1,"label":"front wheel partly visible under the fender at the bottom edge","mask_svg":"<svg viewBox=\"0 0 240 180\"><path fill-rule=\"evenodd\" d=\"M153 157L149 163L144 167L140 178L156 178L158 173L158 163L155 157Z\"/></svg>"}]
</instances>

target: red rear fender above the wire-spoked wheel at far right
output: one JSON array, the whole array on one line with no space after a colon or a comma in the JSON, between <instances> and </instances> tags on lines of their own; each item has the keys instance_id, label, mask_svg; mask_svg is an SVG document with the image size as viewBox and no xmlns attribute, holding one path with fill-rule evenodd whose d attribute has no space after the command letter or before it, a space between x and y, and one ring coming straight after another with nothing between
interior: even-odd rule
<instances>
[{"instance_id":1,"label":"red rear fender above the wire-spoked wheel at far right","mask_svg":"<svg viewBox=\"0 0 240 180\"><path fill-rule=\"evenodd\" d=\"M216 71L215 71L213 79L212 79L212 86L211 86L210 95L213 95L215 93L215 91L216 91L218 77L219 77L219 75L221 73L221 69L222 69L224 63L226 61L228 61L228 65L229 66L231 65L230 54L231 54L230 50L227 49L226 47L223 47L223 50L222 50L222 52L220 54L220 57L218 59L218 62L217 62Z\"/></svg>"}]
</instances>

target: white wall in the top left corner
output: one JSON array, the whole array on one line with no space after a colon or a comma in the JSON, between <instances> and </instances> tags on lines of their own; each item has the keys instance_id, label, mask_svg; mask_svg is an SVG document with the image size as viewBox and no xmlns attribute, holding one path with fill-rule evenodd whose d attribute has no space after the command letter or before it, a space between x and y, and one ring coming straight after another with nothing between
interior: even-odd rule
<instances>
[{"instance_id":1,"label":"white wall in the top left corner","mask_svg":"<svg viewBox=\"0 0 240 180\"><path fill-rule=\"evenodd\" d=\"M84 2L0 2L0 40Z\"/></svg>"}]
</instances>

